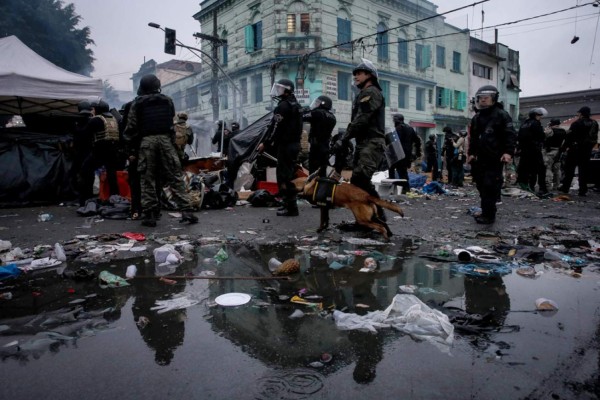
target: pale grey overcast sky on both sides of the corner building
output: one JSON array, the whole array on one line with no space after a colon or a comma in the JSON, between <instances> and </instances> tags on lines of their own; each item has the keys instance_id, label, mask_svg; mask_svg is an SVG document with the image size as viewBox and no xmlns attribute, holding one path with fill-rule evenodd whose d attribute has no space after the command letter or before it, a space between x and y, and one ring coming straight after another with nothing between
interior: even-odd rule
<instances>
[{"instance_id":1,"label":"pale grey overcast sky on both sides of the corner building","mask_svg":"<svg viewBox=\"0 0 600 400\"><path fill-rule=\"evenodd\" d=\"M308 0L307 0L308 1ZM328 1L328 0L324 0ZM337 0L331 0L336 1ZM477 30L477 36L494 41L497 24L517 21L591 3L593 0L490 0L445 15L446 22L460 28ZM66 2L69 2L68 0ZM189 46L199 46L192 36L200 25L192 16L200 11L199 0L74 0L81 26L91 28L96 61L93 76L108 79L115 89L132 90L131 75L149 59L167 61L173 56L163 52L162 31L148 22L177 30L177 38ZM470 5L477 0L434 0L444 13ZM481 11L484 29L481 30ZM519 51L521 96L533 96L600 88L600 39L594 43L600 7L587 5L577 10L498 27L499 41ZM579 41L571 44L573 36ZM187 50L178 48L178 59L198 61Z\"/></svg>"}]
</instances>

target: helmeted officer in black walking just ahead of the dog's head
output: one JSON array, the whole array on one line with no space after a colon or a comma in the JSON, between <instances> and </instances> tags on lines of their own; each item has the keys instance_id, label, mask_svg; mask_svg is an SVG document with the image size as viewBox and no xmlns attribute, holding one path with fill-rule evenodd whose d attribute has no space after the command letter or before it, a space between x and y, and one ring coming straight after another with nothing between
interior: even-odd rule
<instances>
[{"instance_id":1,"label":"helmeted officer in black walking just ahead of the dog's head","mask_svg":"<svg viewBox=\"0 0 600 400\"><path fill-rule=\"evenodd\" d=\"M277 211L277 215L295 217L298 215L297 191L292 181L300 154L301 107L294 96L294 83L289 79L280 79L274 83L271 97L278 101L278 104L273 110L273 119L267 133L257 149L259 152L263 152L265 146L277 149L277 186L284 207Z\"/></svg>"}]
</instances>

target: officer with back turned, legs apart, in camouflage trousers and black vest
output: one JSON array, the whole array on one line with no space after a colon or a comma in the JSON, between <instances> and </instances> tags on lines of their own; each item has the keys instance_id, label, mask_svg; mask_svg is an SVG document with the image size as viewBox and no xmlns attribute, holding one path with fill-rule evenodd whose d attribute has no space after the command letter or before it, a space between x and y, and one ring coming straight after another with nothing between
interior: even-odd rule
<instances>
[{"instance_id":1,"label":"officer with back turned, legs apart, in camouflage trousers and black vest","mask_svg":"<svg viewBox=\"0 0 600 400\"><path fill-rule=\"evenodd\" d=\"M142 225L154 227L160 216L160 184L169 186L173 202L181 211L180 222L198 222L183 183L181 162L174 144L173 100L160 93L160 80L148 74L140 80L138 97L131 105L125 140L139 142L138 170L141 174ZM137 147L137 146L133 146Z\"/></svg>"}]
</instances>

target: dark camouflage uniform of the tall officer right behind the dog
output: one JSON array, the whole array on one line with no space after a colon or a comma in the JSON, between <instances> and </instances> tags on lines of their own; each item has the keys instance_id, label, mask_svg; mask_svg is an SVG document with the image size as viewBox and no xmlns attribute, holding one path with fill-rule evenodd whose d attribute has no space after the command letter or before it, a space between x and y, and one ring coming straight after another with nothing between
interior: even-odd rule
<instances>
[{"instance_id":1,"label":"dark camouflage uniform of the tall officer right behind the dog","mask_svg":"<svg viewBox=\"0 0 600 400\"><path fill-rule=\"evenodd\" d=\"M345 139L356 140L354 169L350 183L379 197L371 183L373 174L385 156L385 99L381 90L371 85L362 89L352 103L352 121Z\"/></svg>"}]
</instances>

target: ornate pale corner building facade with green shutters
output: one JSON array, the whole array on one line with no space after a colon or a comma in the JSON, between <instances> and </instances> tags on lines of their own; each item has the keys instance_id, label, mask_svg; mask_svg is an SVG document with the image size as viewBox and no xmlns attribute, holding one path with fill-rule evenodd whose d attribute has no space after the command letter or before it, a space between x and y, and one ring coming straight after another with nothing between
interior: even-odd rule
<instances>
[{"instance_id":1,"label":"ornate pale corner building facade with green shutters","mask_svg":"<svg viewBox=\"0 0 600 400\"><path fill-rule=\"evenodd\" d=\"M337 127L344 129L356 93L352 70L366 58L378 68L387 129L393 129L394 113L404 114L422 137L468 124L475 54L469 31L446 24L431 2L204 0L200 7L194 18L201 31L227 43L202 42L224 73L204 68L199 80L179 82L193 87L189 96L197 96L182 104L190 114L216 119L216 101L218 119L244 127L273 108L270 88L288 78L303 105L322 94L331 97ZM499 58L485 62L497 69ZM171 86L163 92L182 90ZM212 93L215 87L218 96Z\"/></svg>"}]
</instances>

